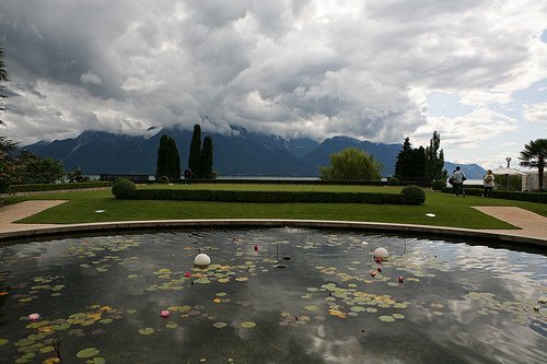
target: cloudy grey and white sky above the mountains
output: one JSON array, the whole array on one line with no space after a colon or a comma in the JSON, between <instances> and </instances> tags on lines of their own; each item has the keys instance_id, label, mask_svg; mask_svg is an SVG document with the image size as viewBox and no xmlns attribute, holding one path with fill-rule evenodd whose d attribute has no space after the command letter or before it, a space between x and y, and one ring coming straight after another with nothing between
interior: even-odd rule
<instances>
[{"instance_id":1,"label":"cloudy grey and white sky above the mountains","mask_svg":"<svg viewBox=\"0 0 547 364\"><path fill-rule=\"evenodd\" d=\"M0 134L181 125L427 145L505 165L547 138L547 2L2 0ZM154 129L154 127L156 129Z\"/></svg>"}]
</instances>

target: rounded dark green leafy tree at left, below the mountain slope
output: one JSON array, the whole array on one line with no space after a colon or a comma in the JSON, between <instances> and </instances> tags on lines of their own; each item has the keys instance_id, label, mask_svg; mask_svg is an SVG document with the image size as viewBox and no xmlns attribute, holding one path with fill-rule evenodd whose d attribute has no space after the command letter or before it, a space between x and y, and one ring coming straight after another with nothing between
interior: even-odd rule
<instances>
[{"instance_id":1,"label":"rounded dark green leafy tree at left, below the mountain slope","mask_svg":"<svg viewBox=\"0 0 547 364\"><path fill-rule=\"evenodd\" d=\"M60 161L44 158L27 151L22 151L18 160L22 166L22 184L54 184L65 177Z\"/></svg>"}]
</instances>

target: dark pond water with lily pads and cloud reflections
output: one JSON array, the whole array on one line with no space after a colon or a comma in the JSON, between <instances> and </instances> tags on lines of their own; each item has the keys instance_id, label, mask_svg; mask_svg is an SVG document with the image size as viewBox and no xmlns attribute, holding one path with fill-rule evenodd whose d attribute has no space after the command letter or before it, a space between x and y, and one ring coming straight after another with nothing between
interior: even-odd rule
<instances>
[{"instance_id":1,"label":"dark pond water with lily pads and cloud reflections","mask_svg":"<svg viewBox=\"0 0 547 364\"><path fill-rule=\"evenodd\" d=\"M0 362L547 363L545 296L545 255L365 232L12 244Z\"/></svg>"}]
</instances>

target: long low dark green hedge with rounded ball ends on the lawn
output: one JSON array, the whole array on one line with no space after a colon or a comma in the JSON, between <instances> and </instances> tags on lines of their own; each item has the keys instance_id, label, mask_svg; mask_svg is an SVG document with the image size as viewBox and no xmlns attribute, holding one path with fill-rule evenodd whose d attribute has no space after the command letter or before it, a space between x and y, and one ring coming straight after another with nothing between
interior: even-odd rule
<instances>
[{"instance_id":1,"label":"long low dark green hedge with rounded ball ends on the lawn","mask_svg":"<svg viewBox=\"0 0 547 364\"><path fill-rule=\"evenodd\" d=\"M179 200L217 202L323 202L416 204L403 193L318 192L318 191L219 191L183 189L135 189L133 200Z\"/></svg>"}]
</instances>

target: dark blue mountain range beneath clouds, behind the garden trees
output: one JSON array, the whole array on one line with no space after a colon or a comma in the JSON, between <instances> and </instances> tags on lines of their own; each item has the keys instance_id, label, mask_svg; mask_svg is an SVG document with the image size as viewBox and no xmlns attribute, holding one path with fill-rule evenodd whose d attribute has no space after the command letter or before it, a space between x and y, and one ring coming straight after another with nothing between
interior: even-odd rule
<instances>
[{"instance_id":1,"label":"dark blue mountain range beneath clouds, behind the garden trees","mask_svg":"<svg viewBox=\"0 0 547 364\"><path fill-rule=\"evenodd\" d=\"M163 128L152 137L88 130L73 139L42 141L22 149L61 161L66 171L81 167L86 175L154 175L160 138L164 133L175 140L184 169L193 131L178 126ZM401 144L372 143L348 137L323 142L307 138L288 140L238 127L233 127L230 134L202 132L202 137L206 136L213 141L213 169L219 176L318 176L318 167L329 165L333 153L350 146L376 157L383 165L382 175L391 176L401 149ZM480 169L479 177L472 173L476 167ZM480 178L485 172L477 165L463 168L468 178ZM450 166L447 171L452 171Z\"/></svg>"}]
</instances>

